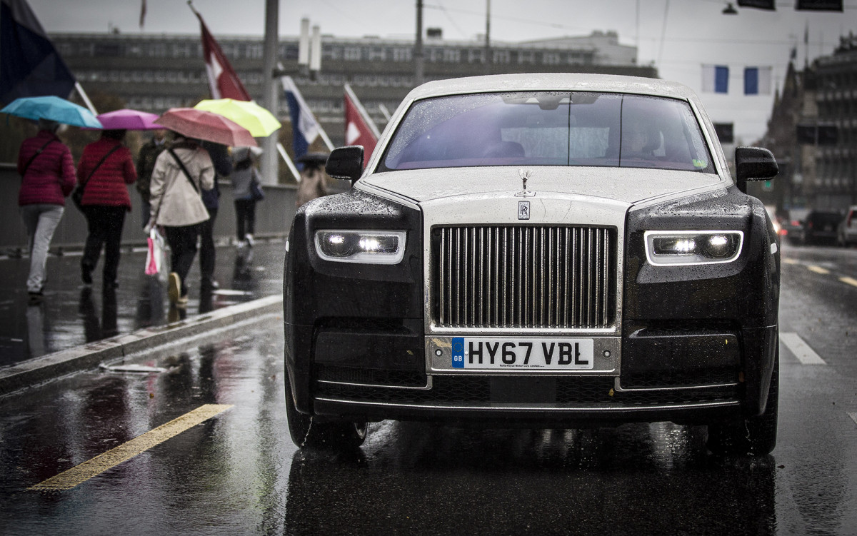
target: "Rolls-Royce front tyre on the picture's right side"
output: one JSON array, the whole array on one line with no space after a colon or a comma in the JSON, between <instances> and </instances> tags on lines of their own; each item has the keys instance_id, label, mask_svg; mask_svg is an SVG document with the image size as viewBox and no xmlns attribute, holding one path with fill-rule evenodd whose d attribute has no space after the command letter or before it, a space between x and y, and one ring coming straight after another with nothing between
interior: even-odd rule
<instances>
[{"instance_id":1,"label":"Rolls-Royce front tyre on the picture's right side","mask_svg":"<svg viewBox=\"0 0 857 536\"><path fill-rule=\"evenodd\" d=\"M776 447L777 411L779 408L780 349L777 342L774 371L764 413L739 422L708 426L708 448L722 456L765 456Z\"/></svg>"}]
</instances>

